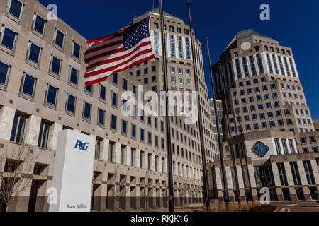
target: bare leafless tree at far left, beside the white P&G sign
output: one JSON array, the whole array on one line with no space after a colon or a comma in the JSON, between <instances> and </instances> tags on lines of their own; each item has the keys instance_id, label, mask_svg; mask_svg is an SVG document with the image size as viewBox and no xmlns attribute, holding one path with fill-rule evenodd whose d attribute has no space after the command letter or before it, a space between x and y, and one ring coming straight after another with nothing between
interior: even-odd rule
<instances>
[{"instance_id":1,"label":"bare leafless tree at far left, beside the white P&G sign","mask_svg":"<svg viewBox=\"0 0 319 226\"><path fill-rule=\"evenodd\" d=\"M33 153L31 145L6 146L0 152L0 195L6 203L6 211L24 191L33 185L33 179L26 178L25 174L33 174L35 161L40 153Z\"/></svg>"}]
</instances>

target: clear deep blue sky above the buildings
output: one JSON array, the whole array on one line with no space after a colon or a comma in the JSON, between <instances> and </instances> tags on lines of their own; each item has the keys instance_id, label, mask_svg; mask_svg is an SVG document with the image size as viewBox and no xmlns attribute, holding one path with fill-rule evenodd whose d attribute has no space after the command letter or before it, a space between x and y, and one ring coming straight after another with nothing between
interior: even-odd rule
<instances>
[{"instance_id":1,"label":"clear deep blue sky above the buildings","mask_svg":"<svg viewBox=\"0 0 319 226\"><path fill-rule=\"evenodd\" d=\"M57 4L57 16L86 39L116 32L135 16L152 10L153 0L40 0ZM259 6L270 6L270 21L259 20ZM158 7L158 0L154 7ZM163 0L164 11L188 24L186 0ZM203 46L203 60L211 96L211 81L206 53L209 38L212 64L240 30L251 28L291 47L313 119L319 118L319 1L318 0L227 0L191 1L193 28Z\"/></svg>"}]
</instances>

